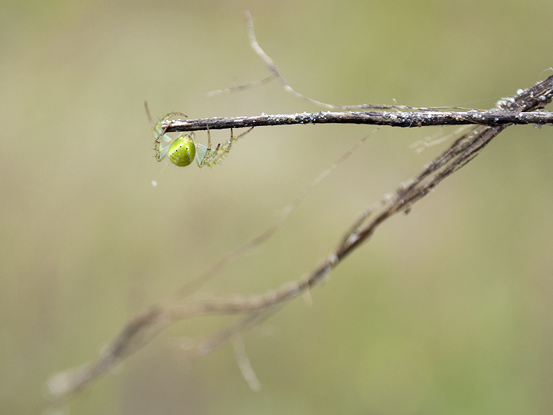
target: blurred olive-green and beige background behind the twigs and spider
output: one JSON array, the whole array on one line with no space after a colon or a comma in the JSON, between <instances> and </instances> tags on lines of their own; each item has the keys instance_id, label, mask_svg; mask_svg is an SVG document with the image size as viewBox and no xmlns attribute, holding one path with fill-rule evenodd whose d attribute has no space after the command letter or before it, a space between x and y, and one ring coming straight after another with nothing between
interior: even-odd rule
<instances>
[{"instance_id":1,"label":"blurred olive-green and beige background behind the twigs and spider","mask_svg":"<svg viewBox=\"0 0 553 415\"><path fill-rule=\"evenodd\" d=\"M153 116L319 111L268 72L243 10L297 91L334 104L493 107L552 74L553 3L14 1L0 4L0 413L37 414L51 374L93 360L129 317L261 233L371 126L258 128L222 165L156 163ZM204 288L298 279L357 212L447 143L380 130L269 243ZM227 131L215 131L224 142ZM196 137L205 142L205 133ZM189 362L171 326L62 409L71 414L553 412L553 135L511 127L312 291ZM151 181L158 181L153 187Z\"/></svg>"}]
</instances>

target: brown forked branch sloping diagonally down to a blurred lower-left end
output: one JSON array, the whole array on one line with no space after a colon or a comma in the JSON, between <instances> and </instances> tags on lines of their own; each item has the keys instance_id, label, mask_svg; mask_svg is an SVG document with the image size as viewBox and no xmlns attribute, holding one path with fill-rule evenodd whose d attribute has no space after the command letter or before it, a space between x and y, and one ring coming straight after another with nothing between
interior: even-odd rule
<instances>
[{"instance_id":1,"label":"brown forked branch sloping diagonally down to a blurred lower-left end","mask_svg":"<svg viewBox=\"0 0 553 415\"><path fill-rule=\"evenodd\" d=\"M259 46L259 45L258 45ZM272 61L271 61L272 62ZM273 62L274 64L274 62ZM274 66L276 68L276 66ZM277 75L272 75L277 77ZM282 81L281 81L282 82ZM287 85L287 84L286 84ZM302 95L303 96L303 95ZM336 248L329 252L324 261L316 266L310 273L299 277L298 279L289 282L268 293L252 296L223 296L223 297L205 297L200 300L189 300L187 294L196 290L198 285L205 282L206 279L213 277L218 270L220 270L227 262L238 255L242 255L243 252L251 250L255 246L259 245L266 237L270 236L276 228L271 228L268 233L261 235L259 240L254 240L246 246L239 248L229 257L226 257L218 264L216 264L211 270L209 270L200 279L195 280L195 284L191 286L185 286L183 291L177 295L166 299L149 308L144 313L138 315L133 320L128 322L120 334L111 342L99 358L95 362L89 365L66 371L62 374L53 376L48 381L48 390L53 398L61 400L75 391L84 387L88 382L91 382L101 374L112 369L121 360L128 357L140 347L147 344L149 340L156 335L158 331L165 328L168 324L187 319L189 317L198 317L201 315L241 315L241 320L238 320L236 324L228 326L223 331L215 333L212 336L198 340L189 349L191 353L198 355L204 355L212 350L214 347L223 343L225 340L232 338L237 333L245 331L250 327L259 324L260 321L270 316L277 311L281 306L287 304L291 299L298 297L299 295L306 294L311 288L319 284L330 274L332 268L337 266L350 252L353 252L356 248L362 245L362 243L368 241L377 226L393 216L397 212L407 211L411 208L413 203L419 201L426 196L433 188L438 185L444 178L456 172L458 169L469 163L474 157L476 157L482 149L495 137L509 126L514 124L513 120L529 120L532 116L541 116L545 113L536 112L546 104L550 103L553 98L553 76L547 78L543 82L532 86L514 98L502 100L498 103L496 109L489 111L494 113L498 120L487 124L482 120L476 122L480 125L467 131L459 136L455 142L444 151L442 155L435 160L431 161L422 172L406 181L394 192L388 194L381 201L369 206L359 214L359 217L353 221L343 237L341 237ZM426 116L431 113L425 113ZM395 116L401 114L413 114L413 113L391 113ZM482 113L468 113L470 116L482 115ZM500 121L501 114L507 116L507 114L514 118L509 121ZM328 115L328 113L326 114ZM452 120L465 119L467 113L463 116L452 116ZM421 116L421 123L424 117ZM224 119L217 119L224 120ZM534 118L537 120L537 118ZM550 118L547 118L547 123L550 123ZM191 120L194 121L194 120ZM197 120L198 121L198 120ZM539 124L545 124L543 119L538 122ZM190 122L190 121L188 121ZM207 121L206 121L207 122ZM214 122L214 120L210 120ZM529 121L528 121L529 122ZM461 122L458 122L461 123ZM468 122L465 122L468 123ZM198 124L199 125L199 124ZM411 125L415 126L417 123ZM427 124L423 124L427 125ZM252 127L252 124L244 125L229 125L229 127ZM172 129L174 128L175 129ZM229 128L219 127L219 128ZM190 125L187 131L190 131ZM209 124L209 129L216 129L214 124ZM172 129L172 130L171 130ZM202 129L200 127L196 129ZM176 121L172 121L171 125L167 128L167 131L177 131ZM182 130L178 130L182 131ZM303 197L303 196L301 196ZM301 199L299 199L301 200ZM294 202L295 203L295 202ZM294 207L292 203L292 208Z\"/></svg>"}]
</instances>

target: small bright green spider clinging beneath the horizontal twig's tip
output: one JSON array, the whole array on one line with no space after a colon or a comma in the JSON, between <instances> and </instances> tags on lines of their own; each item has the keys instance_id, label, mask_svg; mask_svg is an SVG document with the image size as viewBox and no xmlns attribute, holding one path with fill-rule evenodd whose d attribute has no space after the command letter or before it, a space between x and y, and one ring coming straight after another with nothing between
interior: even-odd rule
<instances>
[{"instance_id":1,"label":"small bright green spider clinging beneath the horizontal twig's tip","mask_svg":"<svg viewBox=\"0 0 553 415\"><path fill-rule=\"evenodd\" d=\"M153 124L151 122L147 105L146 112L148 114L148 118L150 118L150 123ZM168 113L167 116L163 117L162 120L153 126L153 133L156 135L156 160L161 161L165 157L169 156L171 163L179 167L190 165L192 160L196 160L198 167L216 165L223 160L225 156L227 156L232 145L236 142L236 140L238 140L238 138L242 138L254 129L254 127L251 127L237 137L234 137L233 131L230 129L230 138L227 144L218 144L215 149L212 149L211 134L209 133L209 129L207 129L207 147L199 142L194 142L194 133L191 133L191 135L185 134L184 136L180 136L175 140L172 140L171 137L165 133L165 131L167 131L167 127L162 129L161 124L173 116L187 117L186 114L179 112Z\"/></svg>"}]
</instances>

